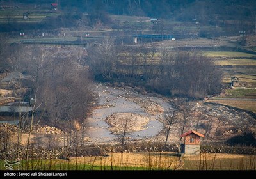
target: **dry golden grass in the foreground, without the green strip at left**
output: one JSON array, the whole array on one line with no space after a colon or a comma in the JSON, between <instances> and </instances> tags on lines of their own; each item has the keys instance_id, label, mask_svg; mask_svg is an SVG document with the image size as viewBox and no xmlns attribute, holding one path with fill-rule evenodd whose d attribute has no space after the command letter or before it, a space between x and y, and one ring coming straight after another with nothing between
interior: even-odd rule
<instances>
[{"instance_id":1,"label":"dry golden grass in the foreground, without the green strip at left","mask_svg":"<svg viewBox=\"0 0 256 179\"><path fill-rule=\"evenodd\" d=\"M149 169L149 170L255 170L255 155L238 155L226 153L201 153L198 156L177 157L172 152L145 153L109 153L99 157L71 157L67 162L77 165L90 165L91 169ZM100 166L100 167L99 167Z\"/></svg>"}]
</instances>

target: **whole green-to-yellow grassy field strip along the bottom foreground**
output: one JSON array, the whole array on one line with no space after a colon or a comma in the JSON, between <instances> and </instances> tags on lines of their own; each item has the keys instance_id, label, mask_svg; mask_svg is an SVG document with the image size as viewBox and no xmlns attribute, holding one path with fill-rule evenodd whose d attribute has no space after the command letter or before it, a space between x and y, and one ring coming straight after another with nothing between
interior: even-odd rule
<instances>
[{"instance_id":1,"label":"whole green-to-yellow grassy field strip along the bottom foreground","mask_svg":"<svg viewBox=\"0 0 256 179\"><path fill-rule=\"evenodd\" d=\"M71 157L69 160L29 160L35 170L255 170L256 155L201 153L177 157L170 152L111 153L102 157ZM0 161L4 170L4 160ZM26 169L22 160L13 169Z\"/></svg>"}]
</instances>

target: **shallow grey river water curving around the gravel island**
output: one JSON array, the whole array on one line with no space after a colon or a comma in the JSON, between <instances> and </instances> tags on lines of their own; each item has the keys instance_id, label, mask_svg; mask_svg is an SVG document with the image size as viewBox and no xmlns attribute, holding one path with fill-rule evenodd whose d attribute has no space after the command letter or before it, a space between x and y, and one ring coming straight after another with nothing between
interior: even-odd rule
<instances>
[{"instance_id":1,"label":"shallow grey river water curving around the gravel island","mask_svg":"<svg viewBox=\"0 0 256 179\"><path fill-rule=\"evenodd\" d=\"M88 129L86 130L87 136L96 142L108 142L113 141L116 136L109 131L109 125L106 123L106 118L114 113L134 113L148 117L150 120L145 127L145 130L132 132L129 134L131 139L141 139L145 137L152 137L159 134L162 125L157 120L161 114L150 114L142 109L136 102L129 100L129 97L143 98L156 102L161 105L164 111L171 108L170 104L164 102L163 99L158 97L150 97L148 95L141 95L134 91L130 91L124 88L113 88L105 86L104 84L98 84L95 87L96 93L99 95L99 105L106 107L95 109L92 116L88 118Z\"/></svg>"}]
</instances>

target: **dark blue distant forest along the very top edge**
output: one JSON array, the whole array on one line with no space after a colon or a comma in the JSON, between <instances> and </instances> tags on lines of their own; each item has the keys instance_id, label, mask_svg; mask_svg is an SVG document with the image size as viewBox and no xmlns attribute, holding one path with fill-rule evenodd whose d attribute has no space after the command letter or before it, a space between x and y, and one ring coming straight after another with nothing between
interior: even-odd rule
<instances>
[{"instance_id":1,"label":"dark blue distant forest along the very top edge","mask_svg":"<svg viewBox=\"0 0 256 179\"><path fill-rule=\"evenodd\" d=\"M8 0L2 1L10 3ZM236 20L253 15L256 6L254 0L60 0L56 2L13 0L11 3L33 4L34 6L50 6L51 3L58 3L58 9L67 10L68 13L72 13L70 10L76 10L88 13L108 12L116 15L146 15L167 19L174 16L183 20L208 17L216 19L224 15L230 18L228 20Z\"/></svg>"}]
</instances>

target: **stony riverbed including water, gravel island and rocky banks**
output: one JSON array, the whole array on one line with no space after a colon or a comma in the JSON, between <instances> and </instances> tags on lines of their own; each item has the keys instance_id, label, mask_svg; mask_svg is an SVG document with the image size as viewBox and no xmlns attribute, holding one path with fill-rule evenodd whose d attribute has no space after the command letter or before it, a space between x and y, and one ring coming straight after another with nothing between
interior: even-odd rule
<instances>
[{"instance_id":1,"label":"stony riverbed including water, gravel island and rocky banks","mask_svg":"<svg viewBox=\"0 0 256 179\"><path fill-rule=\"evenodd\" d=\"M164 143L163 115L172 111L171 104L177 101L190 110L185 130L198 130L204 134L204 143L227 141L236 135L242 135L243 132L252 132L254 136L256 134L255 116L233 107L207 103L204 100L189 101L185 98L166 98L152 93L141 94L136 88L113 87L104 83L95 84L95 93L99 102L87 119L84 144L118 143L116 134L122 130L125 119L129 119L130 126L127 140ZM175 117L182 120L182 115L181 111L177 111ZM0 130L6 131L8 126L10 125L2 124ZM172 125L169 144L179 142L180 127L180 123ZM17 139L17 127L11 128L14 141ZM78 139L74 140L80 145L81 128L77 127L77 130L73 132L72 139L77 137ZM22 143L26 143L26 137L28 132L23 132ZM33 143L40 146L63 146L67 133L55 127L38 125L31 137Z\"/></svg>"}]
</instances>

